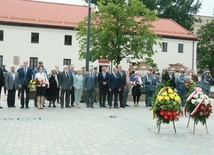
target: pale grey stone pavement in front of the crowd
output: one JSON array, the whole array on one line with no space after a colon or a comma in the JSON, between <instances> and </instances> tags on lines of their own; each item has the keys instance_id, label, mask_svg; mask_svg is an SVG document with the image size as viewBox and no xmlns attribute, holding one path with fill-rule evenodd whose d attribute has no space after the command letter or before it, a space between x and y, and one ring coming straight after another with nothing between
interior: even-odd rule
<instances>
[{"instance_id":1,"label":"pale grey stone pavement in front of the crowd","mask_svg":"<svg viewBox=\"0 0 214 155\"><path fill-rule=\"evenodd\" d=\"M3 100L3 101L2 101ZM192 134L193 121L187 118L162 125L157 133L156 120L149 108L125 109L46 107L38 110L30 101L30 109L7 108L3 95L0 110L1 155L213 155L214 116L205 126L198 124ZM46 104L47 105L47 104ZM116 116L116 118L110 118Z\"/></svg>"}]
</instances>

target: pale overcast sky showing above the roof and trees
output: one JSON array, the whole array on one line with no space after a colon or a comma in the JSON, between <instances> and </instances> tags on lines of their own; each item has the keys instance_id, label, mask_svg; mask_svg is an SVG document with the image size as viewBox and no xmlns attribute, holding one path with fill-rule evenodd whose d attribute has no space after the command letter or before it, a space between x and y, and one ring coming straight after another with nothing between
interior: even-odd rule
<instances>
[{"instance_id":1,"label":"pale overcast sky showing above the roof and trees","mask_svg":"<svg viewBox=\"0 0 214 155\"><path fill-rule=\"evenodd\" d=\"M84 5L85 0L38 0L46 2L58 2L58 3L67 3L67 4L80 4ZM198 15L214 16L214 0L201 0L202 6Z\"/></svg>"}]
</instances>

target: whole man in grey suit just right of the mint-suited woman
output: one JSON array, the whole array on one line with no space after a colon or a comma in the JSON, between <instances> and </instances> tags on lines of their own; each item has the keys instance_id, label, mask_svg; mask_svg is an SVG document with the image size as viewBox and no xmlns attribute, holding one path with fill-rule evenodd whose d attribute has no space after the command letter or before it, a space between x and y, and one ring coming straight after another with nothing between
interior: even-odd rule
<instances>
[{"instance_id":1,"label":"whole man in grey suit just right of the mint-suited woman","mask_svg":"<svg viewBox=\"0 0 214 155\"><path fill-rule=\"evenodd\" d=\"M90 66L89 72L85 74L83 87L86 91L86 105L87 108L94 108L94 91L97 90L97 76L93 72L93 66Z\"/></svg>"}]
</instances>

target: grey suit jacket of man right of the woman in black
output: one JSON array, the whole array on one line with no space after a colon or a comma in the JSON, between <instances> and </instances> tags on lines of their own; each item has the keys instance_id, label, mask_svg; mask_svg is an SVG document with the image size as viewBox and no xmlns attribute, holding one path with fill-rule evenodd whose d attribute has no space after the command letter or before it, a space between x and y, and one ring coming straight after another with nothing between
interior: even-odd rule
<instances>
[{"instance_id":1,"label":"grey suit jacket of man right of the woman in black","mask_svg":"<svg viewBox=\"0 0 214 155\"><path fill-rule=\"evenodd\" d=\"M62 87L62 90L71 90L73 86L73 76L68 73L66 76L65 72L59 74L59 86Z\"/></svg>"}]
</instances>

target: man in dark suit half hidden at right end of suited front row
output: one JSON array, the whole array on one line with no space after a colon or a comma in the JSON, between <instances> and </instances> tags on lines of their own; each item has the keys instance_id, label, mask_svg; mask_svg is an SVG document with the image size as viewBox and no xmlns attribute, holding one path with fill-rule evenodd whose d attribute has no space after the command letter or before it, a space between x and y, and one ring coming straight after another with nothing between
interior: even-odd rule
<instances>
[{"instance_id":1,"label":"man in dark suit half hidden at right end of suited front row","mask_svg":"<svg viewBox=\"0 0 214 155\"><path fill-rule=\"evenodd\" d=\"M121 77L121 91L119 92L120 107L125 108L125 106L129 106L127 104L125 105L125 102L124 102L124 95L126 90L126 72L122 70L121 64L119 64L117 68L118 68L118 74L120 74L120 77Z\"/></svg>"}]
</instances>

